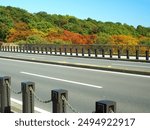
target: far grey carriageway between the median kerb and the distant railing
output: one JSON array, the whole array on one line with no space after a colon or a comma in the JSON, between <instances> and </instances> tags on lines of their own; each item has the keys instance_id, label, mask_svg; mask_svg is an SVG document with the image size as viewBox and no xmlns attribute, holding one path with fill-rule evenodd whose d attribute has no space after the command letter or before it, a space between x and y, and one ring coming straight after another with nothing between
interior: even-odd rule
<instances>
[{"instance_id":1,"label":"far grey carriageway between the median kerb and the distant railing","mask_svg":"<svg viewBox=\"0 0 150 130\"><path fill-rule=\"evenodd\" d=\"M27 54L27 53L10 53L0 52L0 56L16 57L30 60L40 60L46 62L57 62L57 63L71 63L75 65L87 65L104 68L114 68L123 70L134 70L150 73L150 63L144 62L130 62L130 61L119 61L119 60L105 60L105 59L92 59L92 58L78 58L78 57L65 57L65 56L54 56L54 55L41 55L41 54Z\"/></svg>"}]
</instances>

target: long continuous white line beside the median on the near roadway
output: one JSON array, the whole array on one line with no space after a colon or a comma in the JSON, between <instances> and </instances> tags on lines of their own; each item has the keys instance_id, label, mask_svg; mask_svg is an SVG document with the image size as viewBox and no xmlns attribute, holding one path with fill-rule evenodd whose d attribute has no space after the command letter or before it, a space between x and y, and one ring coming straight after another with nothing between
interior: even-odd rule
<instances>
[{"instance_id":1,"label":"long continuous white line beside the median on the near roadway","mask_svg":"<svg viewBox=\"0 0 150 130\"><path fill-rule=\"evenodd\" d=\"M81 71L86 70L86 71L92 71L92 72L101 72L101 73L110 73L110 74L117 74L117 75L126 75L126 76L150 78L150 76L140 75L140 74L129 74L129 73L123 73L123 72L96 70L96 69L79 68L79 67L71 67L71 66L64 66L64 65L54 65L54 64L46 64L46 63L36 63L36 62L20 61L20 60L12 60L12 59L3 59L3 58L0 58L0 60L13 61L13 62L19 62L19 63L36 64L36 65L53 66L53 67L60 67L60 68L67 68L67 69L76 69L76 70L81 70Z\"/></svg>"}]
</instances>

